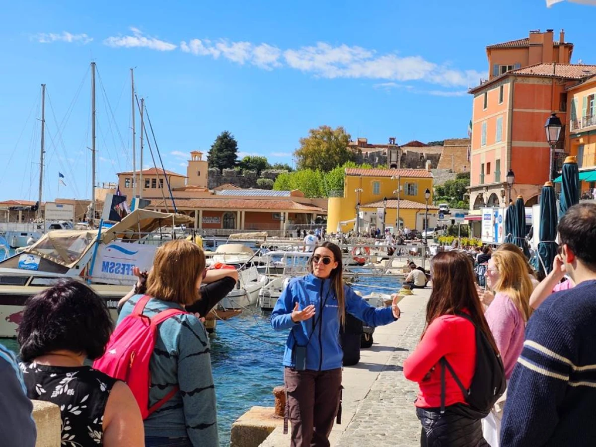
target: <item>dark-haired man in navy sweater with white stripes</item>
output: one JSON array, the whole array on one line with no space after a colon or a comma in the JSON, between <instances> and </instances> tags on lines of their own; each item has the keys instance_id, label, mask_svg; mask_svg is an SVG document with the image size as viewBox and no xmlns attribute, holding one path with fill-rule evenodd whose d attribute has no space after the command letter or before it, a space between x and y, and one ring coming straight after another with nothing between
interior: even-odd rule
<instances>
[{"instance_id":1,"label":"dark-haired man in navy sweater with white stripes","mask_svg":"<svg viewBox=\"0 0 596 447\"><path fill-rule=\"evenodd\" d=\"M527 324L507 390L502 447L596 445L596 205L570 207L558 232L576 286L548 297Z\"/></svg>"}]
</instances>

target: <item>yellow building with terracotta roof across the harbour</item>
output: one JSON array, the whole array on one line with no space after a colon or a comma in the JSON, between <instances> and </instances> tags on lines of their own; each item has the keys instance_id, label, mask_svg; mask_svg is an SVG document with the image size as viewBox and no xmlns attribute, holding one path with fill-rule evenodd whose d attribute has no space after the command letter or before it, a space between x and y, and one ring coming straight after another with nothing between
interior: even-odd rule
<instances>
[{"instance_id":1,"label":"yellow building with terracotta roof across the harbour","mask_svg":"<svg viewBox=\"0 0 596 447\"><path fill-rule=\"evenodd\" d=\"M426 190L430 192L428 221ZM383 216L386 226L397 227L398 210L401 228L422 231L436 224L437 207L432 206L432 194L433 175L426 169L346 168L343 197L330 197L328 201L327 232L336 232L338 225L342 232L355 229L358 209L361 231L382 225Z\"/></svg>"}]
</instances>

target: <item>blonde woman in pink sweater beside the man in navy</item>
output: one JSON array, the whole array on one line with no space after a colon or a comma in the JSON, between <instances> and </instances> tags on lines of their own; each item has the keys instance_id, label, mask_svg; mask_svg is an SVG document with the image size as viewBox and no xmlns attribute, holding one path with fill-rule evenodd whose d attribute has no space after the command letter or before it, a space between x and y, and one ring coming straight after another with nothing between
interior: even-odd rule
<instances>
[{"instance_id":1,"label":"blonde woman in pink sweater beside the man in navy","mask_svg":"<svg viewBox=\"0 0 596 447\"><path fill-rule=\"evenodd\" d=\"M514 247L515 252L496 250L486 269L486 284L495 291L495 299L486 310L485 318L501 353L507 381L522 353L524 330L532 315L532 283L526 273L526 258ZM501 412L492 409L482 420L482 432L491 447L499 447L501 417Z\"/></svg>"}]
</instances>

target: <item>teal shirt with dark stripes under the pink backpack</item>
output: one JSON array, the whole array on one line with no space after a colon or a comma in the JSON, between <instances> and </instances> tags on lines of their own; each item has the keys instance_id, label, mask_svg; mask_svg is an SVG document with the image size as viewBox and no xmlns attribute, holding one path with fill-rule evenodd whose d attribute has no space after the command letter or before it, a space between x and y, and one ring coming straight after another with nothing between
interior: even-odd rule
<instances>
[{"instance_id":1,"label":"teal shirt with dark stripes under the pink backpack","mask_svg":"<svg viewBox=\"0 0 596 447\"><path fill-rule=\"evenodd\" d=\"M125 303L118 322L130 315L140 297ZM170 308L182 309L176 303L151 299L143 313L151 317ZM149 404L157 403L176 385L180 391L144 421L145 436L188 437L195 447L219 447L209 336L203 323L193 314L176 315L158 330L150 361Z\"/></svg>"}]
</instances>

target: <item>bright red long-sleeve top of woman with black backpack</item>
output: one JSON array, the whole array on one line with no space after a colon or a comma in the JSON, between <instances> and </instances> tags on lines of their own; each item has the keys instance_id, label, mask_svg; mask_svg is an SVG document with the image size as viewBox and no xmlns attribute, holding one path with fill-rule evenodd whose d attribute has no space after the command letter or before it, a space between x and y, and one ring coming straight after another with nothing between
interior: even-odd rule
<instances>
[{"instance_id":1,"label":"bright red long-sleeve top of woman with black backpack","mask_svg":"<svg viewBox=\"0 0 596 447\"><path fill-rule=\"evenodd\" d=\"M440 407L439 360L443 356L451 364L464 387L469 388L476 366L476 329L470 321L457 315L442 315L434 319L414 352L403 362L403 375L408 380L418 382L420 387L415 406ZM446 370L445 405L454 403L465 403L465 399L455 379L449 370Z\"/></svg>"}]
</instances>

